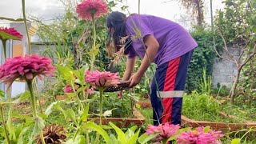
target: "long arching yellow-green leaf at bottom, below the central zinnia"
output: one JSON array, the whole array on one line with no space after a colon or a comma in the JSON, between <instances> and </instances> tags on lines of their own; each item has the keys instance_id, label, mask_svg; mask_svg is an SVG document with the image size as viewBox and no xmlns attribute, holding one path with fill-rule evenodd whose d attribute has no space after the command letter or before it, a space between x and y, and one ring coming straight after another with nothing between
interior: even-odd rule
<instances>
[{"instance_id":1,"label":"long arching yellow-green leaf at bottom, below the central zinnia","mask_svg":"<svg viewBox=\"0 0 256 144\"><path fill-rule=\"evenodd\" d=\"M85 129L95 130L101 134L106 143L110 143L110 137L102 127L96 125L94 122L87 122L84 126Z\"/></svg>"}]
</instances>

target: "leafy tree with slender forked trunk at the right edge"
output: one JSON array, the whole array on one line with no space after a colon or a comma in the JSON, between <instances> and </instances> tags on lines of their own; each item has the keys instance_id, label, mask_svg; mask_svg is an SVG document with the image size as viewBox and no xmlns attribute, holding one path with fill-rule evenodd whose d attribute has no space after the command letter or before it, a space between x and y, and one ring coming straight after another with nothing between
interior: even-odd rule
<instances>
[{"instance_id":1,"label":"leafy tree with slender forked trunk at the right edge","mask_svg":"<svg viewBox=\"0 0 256 144\"><path fill-rule=\"evenodd\" d=\"M256 2L254 0L226 0L224 10L218 11L216 18L216 31L222 37L224 43L221 55L215 49L220 58L234 62L237 66L237 74L231 88L231 103L238 86L242 68L256 55ZM240 54L235 58L228 47L238 48Z\"/></svg>"}]
</instances>

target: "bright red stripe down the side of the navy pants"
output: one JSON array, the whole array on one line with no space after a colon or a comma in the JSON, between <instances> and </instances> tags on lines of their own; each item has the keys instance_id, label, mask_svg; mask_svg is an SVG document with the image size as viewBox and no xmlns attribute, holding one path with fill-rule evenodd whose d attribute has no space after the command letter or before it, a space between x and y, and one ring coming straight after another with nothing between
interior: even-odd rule
<instances>
[{"instance_id":1,"label":"bright red stripe down the side of the navy pants","mask_svg":"<svg viewBox=\"0 0 256 144\"><path fill-rule=\"evenodd\" d=\"M168 68L166 70L166 78L163 86L163 91L174 90L179 61L180 57L175 58L169 62ZM162 104L164 108L164 111L162 112L162 123L171 122L173 98L162 98Z\"/></svg>"}]
</instances>

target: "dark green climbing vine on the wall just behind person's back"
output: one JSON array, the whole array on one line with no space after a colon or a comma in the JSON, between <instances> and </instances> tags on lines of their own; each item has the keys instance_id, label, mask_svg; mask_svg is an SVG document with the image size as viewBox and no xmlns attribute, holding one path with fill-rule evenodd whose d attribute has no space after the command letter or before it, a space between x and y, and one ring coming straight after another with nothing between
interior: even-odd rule
<instances>
[{"instance_id":1,"label":"dark green climbing vine on the wall just behind person's back","mask_svg":"<svg viewBox=\"0 0 256 144\"><path fill-rule=\"evenodd\" d=\"M194 49L190 66L188 69L186 80L186 91L191 93L193 90L200 90L200 79L202 79L202 70L206 69L206 78L212 74L214 66L214 42L212 41L213 32L207 29L195 27L194 31L190 33L198 47ZM221 45L221 39L216 38L216 47Z\"/></svg>"}]
</instances>

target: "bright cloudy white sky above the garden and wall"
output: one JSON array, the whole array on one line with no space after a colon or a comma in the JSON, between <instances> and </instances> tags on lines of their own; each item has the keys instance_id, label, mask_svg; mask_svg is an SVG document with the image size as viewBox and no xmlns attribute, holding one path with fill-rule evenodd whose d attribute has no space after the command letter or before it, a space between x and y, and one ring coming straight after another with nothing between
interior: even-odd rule
<instances>
[{"instance_id":1,"label":"bright cloudy white sky above the garden and wall","mask_svg":"<svg viewBox=\"0 0 256 144\"><path fill-rule=\"evenodd\" d=\"M64 13L63 0L26 0L26 14L49 20ZM79 1L79 0L78 0ZM213 0L214 10L222 8L222 0ZM130 13L138 13L138 0L123 0L129 6ZM153 14L173 20L182 26L189 26L192 18L182 9L178 0L140 0L140 13ZM210 0L205 0L205 18L210 22ZM118 8L117 8L118 10ZM0 17L22 18L21 0L0 0ZM8 25L0 20L0 26Z\"/></svg>"}]
</instances>

